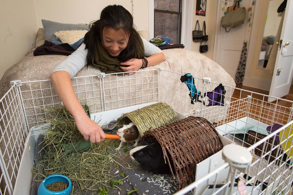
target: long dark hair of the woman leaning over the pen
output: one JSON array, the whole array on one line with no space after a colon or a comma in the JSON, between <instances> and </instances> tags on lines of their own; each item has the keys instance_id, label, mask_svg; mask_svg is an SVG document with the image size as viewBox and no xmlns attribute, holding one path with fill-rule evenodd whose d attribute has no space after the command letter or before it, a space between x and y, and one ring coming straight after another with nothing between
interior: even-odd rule
<instances>
[{"instance_id":1,"label":"long dark hair of the woman leaning over the pen","mask_svg":"<svg viewBox=\"0 0 293 195\"><path fill-rule=\"evenodd\" d=\"M86 49L88 49L86 57L87 64L92 63L94 49L97 41L102 41L102 31L105 26L111 27L114 30L122 29L125 33L129 33L130 36L127 47L117 58L123 62L134 58L134 54L138 50L135 40L139 39L139 34L134 29L132 15L123 6L109 5L102 10L100 20L90 23L90 30L84 36L84 43L86 44Z\"/></svg>"}]
</instances>

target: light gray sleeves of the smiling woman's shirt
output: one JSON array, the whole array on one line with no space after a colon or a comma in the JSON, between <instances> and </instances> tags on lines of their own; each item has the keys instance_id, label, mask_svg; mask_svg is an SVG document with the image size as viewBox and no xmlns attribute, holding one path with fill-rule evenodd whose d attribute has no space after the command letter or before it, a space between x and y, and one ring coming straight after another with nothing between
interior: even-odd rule
<instances>
[{"instance_id":1,"label":"light gray sleeves of the smiling woman's shirt","mask_svg":"<svg viewBox=\"0 0 293 195\"><path fill-rule=\"evenodd\" d=\"M142 38L142 37L141 37ZM144 38L142 38L144 44L144 55L149 57L151 55L161 53L161 49L151 44ZM88 54L88 49L85 49L86 45L83 43L81 46L69 55L64 61L58 64L53 72L56 71L66 71L69 73L70 78L73 78L85 65L86 65L86 55Z\"/></svg>"}]
</instances>

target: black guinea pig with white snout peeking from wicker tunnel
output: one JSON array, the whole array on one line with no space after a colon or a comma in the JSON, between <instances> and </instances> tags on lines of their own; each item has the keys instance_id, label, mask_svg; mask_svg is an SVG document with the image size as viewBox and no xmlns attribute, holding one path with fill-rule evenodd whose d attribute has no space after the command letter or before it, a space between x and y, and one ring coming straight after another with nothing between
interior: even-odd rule
<instances>
[{"instance_id":1,"label":"black guinea pig with white snout peeking from wicker tunnel","mask_svg":"<svg viewBox=\"0 0 293 195\"><path fill-rule=\"evenodd\" d=\"M147 170L147 172L158 174L171 173L168 161L166 159L165 163L162 147L158 142L143 142L142 146L130 150L130 157L140 163L142 168ZM169 153L168 158L171 160ZM173 167L172 170L174 170Z\"/></svg>"}]
</instances>

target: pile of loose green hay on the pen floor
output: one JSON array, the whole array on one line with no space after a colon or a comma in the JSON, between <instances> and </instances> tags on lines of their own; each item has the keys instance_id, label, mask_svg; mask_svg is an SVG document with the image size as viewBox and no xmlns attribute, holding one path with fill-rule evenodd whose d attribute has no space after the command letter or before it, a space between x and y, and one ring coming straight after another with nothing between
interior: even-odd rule
<instances>
[{"instance_id":1,"label":"pile of loose green hay on the pen floor","mask_svg":"<svg viewBox=\"0 0 293 195\"><path fill-rule=\"evenodd\" d=\"M123 184L123 180L128 176L117 174L118 167L138 168L137 163L129 165L123 160L123 157L128 156L127 153L114 151L119 145L119 141L115 139L91 144L88 150L77 152L76 145L72 143L83 142L84 138L79 133L72 115L64 106L55 110L44 110L52 119L43 119L50 124L50 128L42 142L41 151L43 150L45 154L40 154L39 163L32 168L32 172L36 174L35 182L40 182L36 179L40 176L45 178L53 174L62 174L69 177L72 182L71 194L79 195L87 192L97 194L113 187L120 189L118 184ZM70 153L64 152L65 145L68 144L73 146ZM38 167L44 172L39 172Z\"/></svg>"}]
</instances>

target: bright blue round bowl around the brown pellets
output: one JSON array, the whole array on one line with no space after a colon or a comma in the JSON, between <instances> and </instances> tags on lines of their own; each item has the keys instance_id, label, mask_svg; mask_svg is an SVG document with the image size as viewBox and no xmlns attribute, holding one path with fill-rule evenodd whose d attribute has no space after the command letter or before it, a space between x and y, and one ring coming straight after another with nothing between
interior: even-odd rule
<instances>
[{"instance_id":1,"label":"bright blue round bowl around the brown pellets","mask_svg":"<svg viewBox=\"0 0 293 195\"><path fill-rule=\"evenodd\" d=\"M67 183L68 187L62 191L51 191L46 188L47 185L52 184L57 181ZM50 175L50 176L46 177L39 185L38 195L56 195L56 194L69 195L71 192L71 187L72 187L71 181L65 175L59 175L59 174Z\"/></svg>"}]
</instances>

